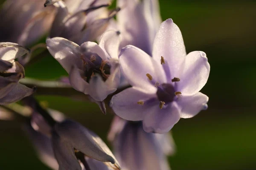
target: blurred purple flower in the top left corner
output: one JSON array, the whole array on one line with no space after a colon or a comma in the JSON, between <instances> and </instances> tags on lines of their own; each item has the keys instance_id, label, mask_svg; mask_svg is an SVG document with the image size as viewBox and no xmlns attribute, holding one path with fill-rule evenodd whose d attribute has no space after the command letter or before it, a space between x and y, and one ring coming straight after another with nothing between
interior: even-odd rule
<instances>
[{"instance_id":1,"label":"blurred purple flower in the top left corner","mask_svg":"<svg viewBox=\"0 0 256 170\"><path fill-rule=\"evenodd\" d=\"M54 8L44 8L44 0L6 0L0 12L0 42L31 45L49 31Z\"/></svg>"}]
</instances>

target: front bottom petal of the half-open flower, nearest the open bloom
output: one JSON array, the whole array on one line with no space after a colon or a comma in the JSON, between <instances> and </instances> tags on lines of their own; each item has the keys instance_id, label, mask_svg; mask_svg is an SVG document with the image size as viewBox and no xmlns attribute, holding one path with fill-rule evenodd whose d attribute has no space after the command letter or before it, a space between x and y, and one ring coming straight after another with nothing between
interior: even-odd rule
<instances>
[{"instance_id":1,"label":"front bottom petal of the half-open flower, nearest the open bloom","mask_svg":"<svg viewBox=\"0 0 256 170\"><path fill-rule=\"evenodd\" d=\"M91 77L89 88L88 94L96 101L103 101L109 94L116 91L116 88L108 86L98 74Z\"/></svg>"}]
</instances>

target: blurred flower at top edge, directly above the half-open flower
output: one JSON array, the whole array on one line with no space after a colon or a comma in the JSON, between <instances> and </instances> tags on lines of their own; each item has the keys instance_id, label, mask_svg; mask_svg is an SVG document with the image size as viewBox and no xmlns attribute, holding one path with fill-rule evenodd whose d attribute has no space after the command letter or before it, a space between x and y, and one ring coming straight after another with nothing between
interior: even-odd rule
<instances>
[{"instance_id":1,"label":"blurred flower at top edge, directly above the half-open flower","mask_svg":"<svg viewBox=\"0 0 256 170\"><path fill-rule=\"evenodd\" d=\"M119 10L108 11L110 0L47 0L45 6L52 4L58 13L49 37L63 37L79 45L100 37Z\"/></svg>"}]
</instances>

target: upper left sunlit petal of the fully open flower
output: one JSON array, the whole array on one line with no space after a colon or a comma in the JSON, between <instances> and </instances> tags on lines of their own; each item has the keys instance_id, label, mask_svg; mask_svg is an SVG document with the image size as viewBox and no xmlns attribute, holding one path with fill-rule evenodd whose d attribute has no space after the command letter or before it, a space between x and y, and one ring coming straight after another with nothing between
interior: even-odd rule
<instances>
[{"instance_id":1,"label":"upper left sunlit petal of the fully open flower","mask_svg":"<svg viewBox=\"0 0 256 170\"><path fill-rule=\"evenodd\" d=\"M157 63L152 57L133 45L122 48L119 54L119 63L122 74L132 86L156 92L155 82L160 84L166 82L160 61ZM151 80L147 77L148 74L151 75Z\"/></svg>"}]
</instances>

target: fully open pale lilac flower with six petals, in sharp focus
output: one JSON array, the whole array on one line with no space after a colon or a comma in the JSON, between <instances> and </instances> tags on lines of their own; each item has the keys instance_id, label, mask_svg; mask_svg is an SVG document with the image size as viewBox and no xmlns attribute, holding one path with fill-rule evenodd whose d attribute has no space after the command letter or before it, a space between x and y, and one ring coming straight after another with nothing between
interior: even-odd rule
<instances>
[{"instance_id":1,"label":"fully open pale lilac flower with six petals, in sharp focus","mask_svg":"<svg viewBox=\"0 0 256 170\"><path fill-rule=\"evenodd\" d=\"M168 132L180 118L191 118L207 108L208 97L198 92L209 77L206 54L186 54L180 29L172 19L161 24L152 57L128 45L119 63L133 87L113 96L111 107L123 119L143 120L146 132Z\"/></svg>"}]
</instances>

